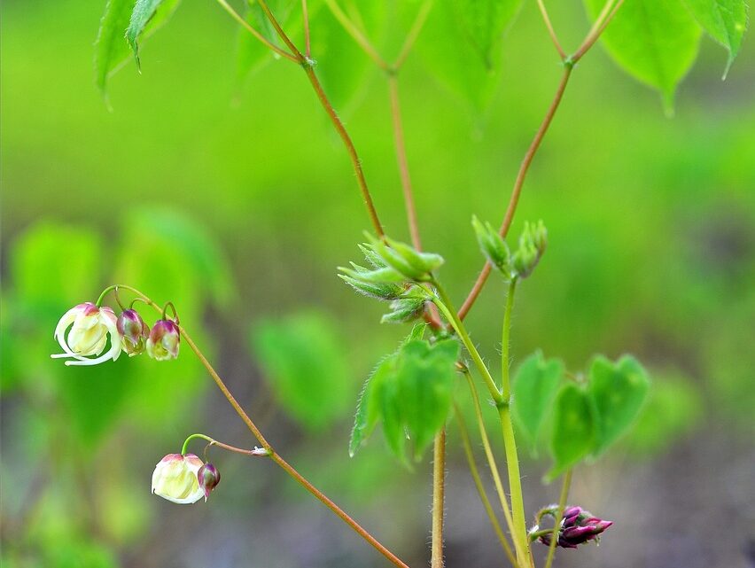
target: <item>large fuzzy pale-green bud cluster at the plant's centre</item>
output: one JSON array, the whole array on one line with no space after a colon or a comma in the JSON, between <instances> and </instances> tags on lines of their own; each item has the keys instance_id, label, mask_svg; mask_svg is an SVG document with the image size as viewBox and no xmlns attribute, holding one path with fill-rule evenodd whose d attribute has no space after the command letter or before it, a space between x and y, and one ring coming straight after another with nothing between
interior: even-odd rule
<instances>
[{"instance_id":1,"label":"large fuzzy pale-green bud cluster at the plant's centre","mask_svg":"<svg viewBox=\"0 0 755 568\"><path fill-rule=\"evenodd\" d=\"M443 264L443 258L388 237L370 238L359 248L370 268L352 262L351 268L339 268L339 277L356 292L391 303L383 323L408 323L422 317L430 295L419 284L432 281L432 271Z\"/></svg>"}]
</instances>

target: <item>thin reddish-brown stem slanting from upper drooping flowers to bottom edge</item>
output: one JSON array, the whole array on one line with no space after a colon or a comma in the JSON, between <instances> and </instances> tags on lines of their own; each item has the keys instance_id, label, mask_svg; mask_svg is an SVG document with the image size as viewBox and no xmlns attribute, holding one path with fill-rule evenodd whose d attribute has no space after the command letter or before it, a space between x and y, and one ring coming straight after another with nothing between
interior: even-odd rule
<instances>
[{"instance_id":1,"label":"thin reddish-brown stem slanting from upper drooping flowers to bottom edge","mask_svg":"<svg viewBox=\"0 0 755 568\"><path fill-rule=\"evenodd\" d=\"M132 286L126 286L118 284L119 288L122 288L124 290L129 290L131 292L134 292L137 296L141 297L146 304L149 304L154 309L160 313L162 311L162 308L158 306L155 302L150 300L148 296L146 296L143 292L140 292L136 290L136 288L133 288ZM114 289L114 286L111 288ZM244 408L241 408L241 405L238 404L237 400L234 398L234 396L230 393L230 390L228 387L223 383L222 378L220 375L218 375L217 371L214 370L213 366L210 364L210 362L207 361L206 357L202 352L199 350L198 346L194 343L194 341L191 339L188 333L186 333L186 330L183 328L183 326L179 326L179 331L181 333L181 337L183 338L183 341L186 342L186 344L189 346L191 351L194 352L195 355L197 355L199 362L202 363L202 365L205 367L207 372L210 374L210 377L213 377L213 380L215 382L215 385L218 386L218 388L223 393L223 396L230 402L230 405L233 407L234 410L236 410L237 415L244 421L244 424L246 424L246 427L249 428L249 431L252 432L253 436L260 442L261 446L267 451L270 459L272 459L275 463L277 463L286 473L288 473L293 479L296 479L297 482L300 483L301 486L304 486L307 491L313 495L320 501L323 502L323 504L330 509L333 513L335 513L341 520L343 520L346 525L349 525L355 533L359 534L365 541L368 541L371 546L373 546L375 549L377 549L378 552L380 552L383 556L385 556L388 560L390 560L394 565L398 566L399 568L409 568L407 564L404 564L401 559L398 556L395 556L393 552L386 549L385 546L383 546L380 542L375 539L369 532L367 532L364 528L362 528L361 525L359 525L352 517L349 517L344 510L342 510L336 503L332 502L331 499L329 499L323 492L321 492L319 489L317 489L315 486L313 486L307 479L300 474L299 471L296 471L290 463L287 463L283 457L278 455L276 451L273 449L273 447L269 444L268 440L265 440L264 436L262 436L262 432L257 428L257 426L253 423L252 418L249 417L249 415L246 414Z\"/></svg>"}]
</instances>

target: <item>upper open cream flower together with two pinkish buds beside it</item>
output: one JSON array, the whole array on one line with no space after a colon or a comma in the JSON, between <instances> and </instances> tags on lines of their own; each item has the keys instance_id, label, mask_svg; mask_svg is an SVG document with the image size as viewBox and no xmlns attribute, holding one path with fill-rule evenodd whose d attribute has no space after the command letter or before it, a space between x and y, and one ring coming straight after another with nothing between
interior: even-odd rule
<instances>
[{"instance_id":1,"label":"upper open cream flower together with two pinkish buds beside it","mask_svg":"<svg viewBox=\"0 0 755 568\"><path fill-rule=\"evenodd\" d=\"M165 315L150 330L133 307L116 316L112 307L85 302L60 318L54 337L63 353L53 358L67 358L66 365L97 365L117 360L121 351L131 357L146 351L157 361L175 359L181 334Z\"/></svg>"}]
</instances>

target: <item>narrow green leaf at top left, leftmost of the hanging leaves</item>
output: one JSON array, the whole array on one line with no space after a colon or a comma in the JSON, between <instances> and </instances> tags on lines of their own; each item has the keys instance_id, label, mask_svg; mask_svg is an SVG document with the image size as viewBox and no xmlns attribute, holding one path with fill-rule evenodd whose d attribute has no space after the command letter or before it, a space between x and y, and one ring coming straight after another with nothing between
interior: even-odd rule
<instances>
[{"instance_id":1,"label":"narrow green leaf at top left, leftmost of the hanging leaves","mask_svg":"<svg viewBox=\"0 0 755 568\"><path fill-rule=\"evenodd\" d=\"M107 0L95 42L95 82L105 93L108 78L128 59L125 32L133 0Z\"/></svg>"}]
</instances>

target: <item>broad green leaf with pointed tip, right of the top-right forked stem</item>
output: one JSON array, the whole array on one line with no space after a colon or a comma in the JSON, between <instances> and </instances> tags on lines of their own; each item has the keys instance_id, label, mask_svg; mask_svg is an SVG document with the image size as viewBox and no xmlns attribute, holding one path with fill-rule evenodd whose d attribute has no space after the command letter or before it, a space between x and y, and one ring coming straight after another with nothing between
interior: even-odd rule
<instances>
[{"instance_id":1,"label":"broad green leaf with pointed tip, right of the top-right forked stem","mask_svg":"<svg viewBox=\"0 0 755 568\"><path fill-rule=\"evenodd\" d=\"M585 0L595 17L604 0ZM677 84L697 58L700 27L681 0L626 0L601 41L628 74L660 90L673 109Z\"/></svg>"}]
</instances>

